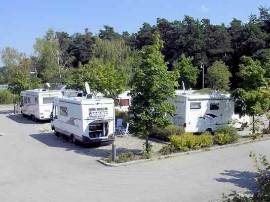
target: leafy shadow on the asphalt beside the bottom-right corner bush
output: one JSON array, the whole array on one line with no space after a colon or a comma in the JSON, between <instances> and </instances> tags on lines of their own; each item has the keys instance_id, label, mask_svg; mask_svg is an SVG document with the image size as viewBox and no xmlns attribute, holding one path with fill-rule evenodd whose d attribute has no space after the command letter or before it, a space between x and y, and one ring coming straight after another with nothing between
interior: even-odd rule
<instances>
[{"instance_id":1,"label":"leafy shadow on the asphalt beside the bottom-right corner bush","mask_svg":"<svg viewBox=\"0 0 270 202\"><path fill-rule=\"evenodd\" d=\"M224 173L220 173L224 176L221 178L215 178L214 180L218 182L226 182L226 183L232 183L236 186L239 186L241 188L245 188L248 190L254 190L256 187L255 177L258 176L255 172L250 171L236 171L236 170L224 170ZM228 178L228 177L233 178Z\"/></svg>"}]
</instances>

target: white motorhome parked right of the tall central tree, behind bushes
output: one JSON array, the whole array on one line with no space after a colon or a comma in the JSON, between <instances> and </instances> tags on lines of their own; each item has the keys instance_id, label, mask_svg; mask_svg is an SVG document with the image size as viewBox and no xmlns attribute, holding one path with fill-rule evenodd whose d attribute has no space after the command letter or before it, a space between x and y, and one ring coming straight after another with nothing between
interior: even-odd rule
<instances>
[{"instance_id":1,"label":"white motorhome parked right of the tall central tree, behind bushes","mask_svg":"<svg viewBox=\"0 0 270 202\"><path fill-rule=\"evenodd\" d=\"M240 118L235 114L235 104L229 94L176 90L175 95L176 100L168 98L176 106L175 114L169 117L174 125L184 127L186 132L215 131L236 118L237 126L241 126L240 122L249 122L248 116Z\"/></svg>"}]
</instances>

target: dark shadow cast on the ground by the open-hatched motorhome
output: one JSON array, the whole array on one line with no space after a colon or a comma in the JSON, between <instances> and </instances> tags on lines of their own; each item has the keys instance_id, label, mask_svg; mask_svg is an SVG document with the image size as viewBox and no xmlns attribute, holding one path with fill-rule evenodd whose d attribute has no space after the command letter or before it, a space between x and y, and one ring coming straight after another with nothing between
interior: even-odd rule
<instances>
[{"instance_id":1,"label":"dark shadow cast on the ground by the open-hatched motorhome","mask_svg":"<svg viewBox=\"0 0 270 202\"><path fill-rule=\"evenodd\" d=\"M111 155L111 145L108 144L104 146L100 143L74 145L67 137L56 137L53 133L32 134L30 137L46 144L47 146L65 148L66 151L73 150L76 154L87 155L93 158L107 158ZM117 148L118 155L126 153L127 151L131 151L133 153L141 152L140 149L127 149L124 147Z\"/></svg>"}]
</instances>

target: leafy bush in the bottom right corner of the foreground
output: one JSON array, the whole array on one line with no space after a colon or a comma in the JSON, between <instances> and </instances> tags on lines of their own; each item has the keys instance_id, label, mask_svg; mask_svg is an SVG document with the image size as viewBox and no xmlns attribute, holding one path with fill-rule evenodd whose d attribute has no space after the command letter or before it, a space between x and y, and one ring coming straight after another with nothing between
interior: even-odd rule
<instances>
[{"instance_id":1,"label":"leafy bush in the bottom right corner of the foreground","mask_svg":"<svg viewBox=\"0 0 270 202\"><path fill-rule=\"evenodd\" d=\"M266 156L259 155L257 157L255 154L250 153L253 165L258 172L258 176L255 178L257 183L256 192L251 196L246 196L243 194L238 194L236 191L224 196L224 202L266 202L270 201L270 175L269 169L270 164L268 163Z\"/></svg>"}]
</instances>

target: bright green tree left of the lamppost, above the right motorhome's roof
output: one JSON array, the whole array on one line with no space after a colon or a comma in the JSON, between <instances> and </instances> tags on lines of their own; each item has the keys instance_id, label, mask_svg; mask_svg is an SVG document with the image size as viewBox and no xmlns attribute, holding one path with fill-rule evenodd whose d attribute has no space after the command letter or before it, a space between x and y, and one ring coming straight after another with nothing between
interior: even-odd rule
<instances>
[{"instance_id":1,"label":"bright green tree left of the lamppost, above the right motorhome's roof","mask_svg":"<svg viewBox=\"0 0 270 202\"><path fill-rule=\"evenodd\" d=\"M199 75L199 69L192 65L192 57L180 56L180 61L174 61L173 67L179 72L178 83L182 85L182 81L189 88L195 86Z\"/></svg>"}]
</instances>

